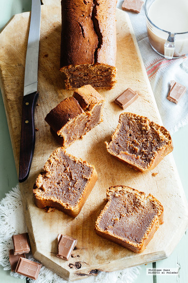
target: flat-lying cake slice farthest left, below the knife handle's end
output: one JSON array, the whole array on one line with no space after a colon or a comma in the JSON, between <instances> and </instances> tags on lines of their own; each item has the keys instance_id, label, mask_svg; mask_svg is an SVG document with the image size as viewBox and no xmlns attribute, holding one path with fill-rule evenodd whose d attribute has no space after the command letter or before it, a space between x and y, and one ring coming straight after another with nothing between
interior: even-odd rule
<instances>
[{"instance_id":1,"label":"flat-lying cake slice farthest left, below the knife handle's end","mask_svg":"<svg viewBox=\"0 0 188 283\"><path fill-rule=\"evenodd\" d=\"M56 208L77 216L97 180L95 167L59 147L43 169L34 184L36 206Z\"/></svg>"}]
</instances>

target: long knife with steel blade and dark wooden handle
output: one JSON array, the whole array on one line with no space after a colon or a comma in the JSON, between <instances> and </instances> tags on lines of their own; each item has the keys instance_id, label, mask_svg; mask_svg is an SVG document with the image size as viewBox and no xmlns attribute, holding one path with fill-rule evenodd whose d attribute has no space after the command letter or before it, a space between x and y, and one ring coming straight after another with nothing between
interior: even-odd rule
<instances>
[{"instance_id":1,"label":"long knife with steel blade and dark wooden handle","mask_svg":"<svg viewBox=\"0 0 188 283\"><path fill-rule=\"evenodd\" d=\"M37 91L37 83L40 25L41 1L32 0L30 31L25 64L19 182L24 182L29 176L35 149L34 114L35 104L39 96L39 92Z\"/></svg>"}]
</instances>

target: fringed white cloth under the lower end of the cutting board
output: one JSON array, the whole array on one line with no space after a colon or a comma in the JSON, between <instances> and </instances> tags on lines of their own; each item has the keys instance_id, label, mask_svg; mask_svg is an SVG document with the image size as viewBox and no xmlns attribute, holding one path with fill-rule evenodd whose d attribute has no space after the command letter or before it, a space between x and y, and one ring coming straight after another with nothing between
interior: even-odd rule
<instances>
[{"instance_id":1,"label":"fringed white cloth under the lower end of the cutting board","mask_svg":"<svg viewBox=\"0 0 188 283\"><path fill-rule=\"evenodd\" d=\"M6 194L6 198L1 201L0 218L0 264L3 265L5 270L10 270L9 250L13 249L12 235L27 232L19 185L13 188L10 193ZM35 261L32 254L29 254L28 258ZM100 272L97 276L90 276L74 282L132 283L139 274L139 269L140 267L130 267L113 272ZM14 277L26 278L16 272L11 272L11 275ZM65 283L67 281L43 265L38 279L30 279L30 282Z\"/></svg>"}]
</instances>

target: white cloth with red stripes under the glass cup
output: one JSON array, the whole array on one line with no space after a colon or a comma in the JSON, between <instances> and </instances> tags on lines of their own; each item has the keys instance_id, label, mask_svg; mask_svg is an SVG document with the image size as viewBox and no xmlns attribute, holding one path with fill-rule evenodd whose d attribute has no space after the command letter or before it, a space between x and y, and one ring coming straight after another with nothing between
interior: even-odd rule
<instances>
[{"instance_id":1,"label":"white cloth with red stripes under the glass cup","mask_svg":"<svg viewBox=\"0 0 188 283\"><path fill-rule=\"evenodd\" d=\"M118 0L117 8L121 9L122 3L123 0ZM144 5L139 14L127 13L131 20L163 125L170 134L173 134L180 127L188 124L188 60L186 57L166 60L151 48L147 37ZM178 104L166 99L170 80L175 80L187 87L186 93Z\"/></svg>"}]
</instances>

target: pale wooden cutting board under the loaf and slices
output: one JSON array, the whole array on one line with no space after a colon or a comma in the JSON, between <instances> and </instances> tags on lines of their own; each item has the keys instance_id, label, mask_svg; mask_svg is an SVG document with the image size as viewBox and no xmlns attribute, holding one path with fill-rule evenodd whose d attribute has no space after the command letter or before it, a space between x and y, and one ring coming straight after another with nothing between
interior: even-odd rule
<instances>
[{"instance_id":1,"label":"pale wooden cutting board under the loaf and slices","mask_svg":"<svg viewBox=\"0 0 188 283\"><path fill-rule=\"evenodd\" d=\"M19 168L22 99L25 56L30 13L13 17L0 34L1 89L7 113L17 170ZM117 10L117 84L112 90L99 90L105 97L104 121L68 152L96 167L98 181L82 211L74 219L62 212L46 213L34 204L33 184L46 160L59 145L44 118L47 113L73 91L63 89L60 66L61 8L60 0L46 0L42 6L39 54L39 99L35 111L36 148L30 176L20 184L24 211L36 259L65 279L75 280L167 257L186 230L187 203L172 154L147 173L135 171L107 153L109 141L123 111L113 99L127 87L139 98L126 111L147 116L161 124L153 93L139 53L128 14ZM152 172L157 175L152 176ZM98 236L94 223L103 209L106 189L111 185L128 185L151 193L164 207L164 224L159 227L145 251L135 254ZM78 239L69 261L56 257L57 235L63 233Z\"/></svg>"}]
</instances>

